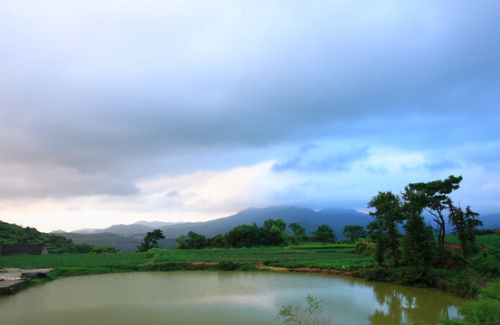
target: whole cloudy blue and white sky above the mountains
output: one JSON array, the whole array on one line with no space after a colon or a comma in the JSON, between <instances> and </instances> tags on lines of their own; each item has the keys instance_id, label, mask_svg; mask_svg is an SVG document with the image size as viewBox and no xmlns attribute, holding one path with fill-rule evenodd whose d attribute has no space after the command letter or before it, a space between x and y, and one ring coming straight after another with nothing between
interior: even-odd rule
<instances>
[{"instance_id":1,"label":"whole cloudy blue and white sky above the mountains","mask_svg":"<svg viewBox=\"0 0 500 325\"><path fill-rule=\"evenodd\" d=\"M500 212L500 2L5 1L0 220L366 211L462 175Z\"/></svg>"}]
</instances>

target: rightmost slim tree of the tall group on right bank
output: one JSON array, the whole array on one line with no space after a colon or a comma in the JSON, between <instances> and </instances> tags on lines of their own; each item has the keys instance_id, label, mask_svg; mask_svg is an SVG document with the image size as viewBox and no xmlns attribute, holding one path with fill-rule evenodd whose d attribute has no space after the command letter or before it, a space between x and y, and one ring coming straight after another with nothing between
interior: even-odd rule
<instances>
[{"instance_id":1,"label":"rightmost slim tree of the tall group on right bank","mask_svg":"<svg viewBox=\"0 0 500 325\"><path fill-rule=\"evenodd\" d=\"M453 231L457 233L458 240L462 246L464 257L476 241L476 228L483 225L483 221L477 219L478 213L472 212L470 207L467 207L464 212L460 207L454 207L451 200L448 200L449 209L449 224L453 226Z\"/></svg>"}]
</instances>

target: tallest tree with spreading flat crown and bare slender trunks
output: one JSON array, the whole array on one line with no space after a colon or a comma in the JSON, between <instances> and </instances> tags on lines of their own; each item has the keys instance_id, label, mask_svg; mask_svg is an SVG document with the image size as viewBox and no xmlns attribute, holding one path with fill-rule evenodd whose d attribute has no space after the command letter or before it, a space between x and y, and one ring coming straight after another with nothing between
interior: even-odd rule
<instances>
[{"instance_id":1,"label":"tallest tree with spreading flat crown and bare slender trunks","mask_svg":"<svg viewBox=\"0 0 500 325\"><path fill-rule=\"evenodd\" d=\"M445 215L443 212L448 209L448 195L453 190L458 190L460 187L462 176L450 175L444 181L429 181L411 183L408 185L409 190L423 193L427 197L426 210L432 215L436 222L435 232L438 236L438 243L440 246L445 245Z\"/></svg>"}]
</instances>

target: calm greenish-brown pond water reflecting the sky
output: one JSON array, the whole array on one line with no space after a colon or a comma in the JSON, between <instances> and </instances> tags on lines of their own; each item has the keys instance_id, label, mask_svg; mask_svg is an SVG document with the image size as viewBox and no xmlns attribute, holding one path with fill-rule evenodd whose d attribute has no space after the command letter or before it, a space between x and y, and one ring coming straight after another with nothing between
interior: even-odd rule
<instances>
[{"instance_id":1,"label":"calm greenish-brown pond water reflecting the sky","mask_svg":"<svg viewBox=\"0 0 500 325\"><path fill-rule=\"evenodd\" d=\"M281 306L325 301L338 325L436 324L464 300L323 274L169 272L62 278L0 298L0 324L280 324Z\"/></svg>"}]
</instances>

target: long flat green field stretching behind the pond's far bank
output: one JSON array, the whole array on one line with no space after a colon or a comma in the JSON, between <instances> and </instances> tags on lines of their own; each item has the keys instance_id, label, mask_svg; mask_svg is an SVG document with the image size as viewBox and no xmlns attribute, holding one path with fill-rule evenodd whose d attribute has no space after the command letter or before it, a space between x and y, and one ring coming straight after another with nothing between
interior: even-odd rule
<instances>
[{"instance_id":1,"label":"long flat green field stretching behind the pond's far bank","mask_svg":"<svg viewBox=\"0 0 500 325\"><path fill-rule=\"evenodd\" d=\"M354 245L305 245L230 249L152 249L146 253L0 256L0 268L54 268L61 274L147 270L237 269L245 265L353 270L372 258L352 253ZM219 267L220 265L220 267Z\"/></svg>"}]
</instances>

